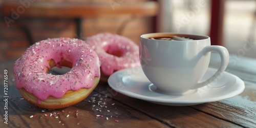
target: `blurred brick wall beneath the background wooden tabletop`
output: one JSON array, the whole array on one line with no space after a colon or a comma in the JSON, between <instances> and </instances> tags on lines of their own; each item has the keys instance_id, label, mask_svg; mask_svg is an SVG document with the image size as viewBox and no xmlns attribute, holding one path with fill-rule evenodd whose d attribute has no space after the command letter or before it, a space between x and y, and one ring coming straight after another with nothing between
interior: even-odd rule
<instances>
[{"instance_id":1,"label":"blurred brick wall beneath the background wooden tabletop","mask_svg":"<svg viewBox=\"0 0 256 128\"><path fill-rule=\"evenodd\" d=\"M3 1L0 0L0 4ZM40 0L42 1L42 0ZM45 0L46 1L46 0ZM48 0L50 1L50 0ZM53 1L53 0L52 0ZM55 0L62 2L65 0ZM66 0L71 1L71 0ZM79 2L82 0L76 0ZM109 3L109 1L97 0L88 2ZM140 0L145 1L145 0ZM38 1L37 1L38 2ZM83 1L84 2L84 1ZM132 1L129 1L132 2ZM1 7L1 6L0 6ZM1 15L0 15L1 16ZM31 33L32 43L47 38L55 37L77 37L76 22L70 18L18 18L8 26L3 17L0 19L0 61L16 60L31 45L28 34ZM126 36L137 44L139 36L144 33L153 32L152 17L133 17L131 15L101 16L82 19L82 39L101 33L110 32ZM27 28L27 29L25 29Z\"/></svg>"}]
</instances>

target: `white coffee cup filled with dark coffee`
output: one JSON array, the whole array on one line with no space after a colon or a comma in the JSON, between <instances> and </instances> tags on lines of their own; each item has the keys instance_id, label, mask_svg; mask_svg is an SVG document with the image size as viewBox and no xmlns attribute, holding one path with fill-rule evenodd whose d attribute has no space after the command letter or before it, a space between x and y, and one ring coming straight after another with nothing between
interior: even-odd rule
<instances>
[{"instance_id":1,"label":"white coffee cup filled with dark coffee","mask_svg":"<svg viewBox=\"0 0 256 128\"><path fill-rule=\"evenodd\" d=\"M158 91L172 95L186 94L211 83L225 71L229 60L226 48L211 46L210 37L202 35L144 34L140 36L139 47L141 67L148 80ZM221 66L210 78L201 81L209 65L210 52L220 54Z\"/></svg>"}]
</instances>

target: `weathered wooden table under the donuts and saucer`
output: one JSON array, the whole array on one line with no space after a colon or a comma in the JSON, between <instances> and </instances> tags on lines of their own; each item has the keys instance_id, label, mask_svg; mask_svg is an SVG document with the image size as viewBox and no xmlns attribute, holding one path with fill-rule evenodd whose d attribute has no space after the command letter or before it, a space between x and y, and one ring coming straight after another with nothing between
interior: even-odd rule
<instances>
[{"instance_id":1,"label":"weathered wooden table under the donuts and saucer","mask_svg":"<svg viewBox=\"0 0 256 128\"><path fill-rule=\"evenodd\" d=\"M37 108L24 100L15 88L13 63L0 63L0 127L256 127L256 59L230 57L226 71L244 80L246 88L229 99L193 106L166 106L122 95L108 83L100 82L88 98L60 110ZM212 57L210 67L218 65L218 57ZM5 69L7 103L3 90ZM8 124L4 123L5 111Z\"/></svg>"}]
</instances>

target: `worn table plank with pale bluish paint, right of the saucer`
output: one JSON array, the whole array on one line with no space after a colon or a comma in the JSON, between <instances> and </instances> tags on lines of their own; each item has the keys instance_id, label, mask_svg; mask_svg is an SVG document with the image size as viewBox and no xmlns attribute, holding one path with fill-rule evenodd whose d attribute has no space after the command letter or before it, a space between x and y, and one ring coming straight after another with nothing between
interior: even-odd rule
<instances>
[{"instance_id":1,"label":"worn table plank with pale bluish paint, right of the saucer","mask_svg":"<svg viewBox=\"0 0 256 128\"><path fill-rule=\"evenodd\" d=\"M245 127L256 126L256 84L245 82L242 94L219 102L206 103L205 105L191 106L199 111L228 120Z\"/></svg>"}]
</instances>

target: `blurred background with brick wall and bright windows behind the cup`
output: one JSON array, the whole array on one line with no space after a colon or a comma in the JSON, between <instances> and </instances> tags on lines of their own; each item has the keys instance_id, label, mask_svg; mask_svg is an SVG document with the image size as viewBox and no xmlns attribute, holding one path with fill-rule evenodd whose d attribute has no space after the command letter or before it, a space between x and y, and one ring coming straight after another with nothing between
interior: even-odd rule
<instances>
[{"instance_id":1,"label":"blurred background with brick wall and bright windows behind the cup","mask_svg":"<svg viewBox=\"0 0 256 128\"><path fill-rule=\"evenodd\" d=\"M0 0L0 61L15 60L37 41L85 40L102 32L201 34L230 54L256 58L255 0Z\"/></svg>"}]
</instances>

